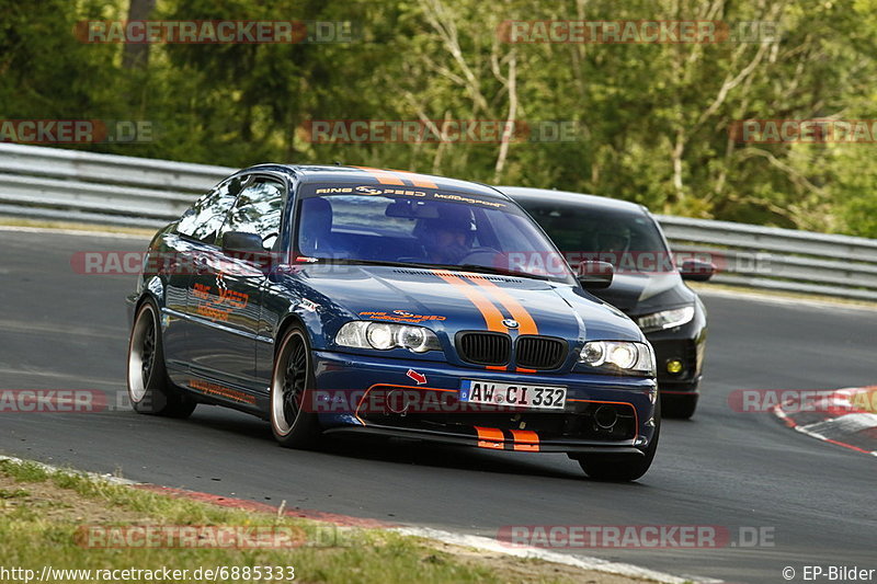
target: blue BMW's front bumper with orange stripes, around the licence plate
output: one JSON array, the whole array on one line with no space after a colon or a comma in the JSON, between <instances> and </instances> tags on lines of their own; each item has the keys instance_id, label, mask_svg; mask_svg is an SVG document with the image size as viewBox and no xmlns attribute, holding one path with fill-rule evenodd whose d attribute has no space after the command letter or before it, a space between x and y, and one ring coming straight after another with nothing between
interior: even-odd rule
<instances>
[{"instance_id":1,"label":"blue BMW's front bumper with orange stripes, around the licence plate","mask_svg":"<svg viewBox=\"0 0 877 584\"><path fill-rule=\"evenodd\" d=\"M446 363L314 352L311 404L328 433L357 432L515 451L641 454L654 434L656 382L640 377L539 375ZM565 386L563 410L476 406L464 379ZM601 410L597 424L596 412ZM610 428L605 419L614 420Z\"/></svg>"}]
</instances>

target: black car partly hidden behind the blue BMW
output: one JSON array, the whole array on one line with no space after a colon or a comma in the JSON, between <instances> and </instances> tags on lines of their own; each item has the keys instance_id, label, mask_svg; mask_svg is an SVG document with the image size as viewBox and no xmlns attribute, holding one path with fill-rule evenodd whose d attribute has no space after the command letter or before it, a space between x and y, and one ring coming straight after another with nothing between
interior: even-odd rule
<instances>
[{"instance_id":1,"label":"black car partly hidden behind the blue BMW","mask_svg":"<svg viewBox=\"0 0 877 584\"><path fill-rule=\"evenodd\" d=\"M715 266L697 259L676 265L658 221L641 205L542 188L500 190L536 219L570 265L613 265L612 284L589 291L629 316L654 347L664 417L691 417L707 323L703 302L683 280L707 280Z\"/></svg>"}]
</instances>

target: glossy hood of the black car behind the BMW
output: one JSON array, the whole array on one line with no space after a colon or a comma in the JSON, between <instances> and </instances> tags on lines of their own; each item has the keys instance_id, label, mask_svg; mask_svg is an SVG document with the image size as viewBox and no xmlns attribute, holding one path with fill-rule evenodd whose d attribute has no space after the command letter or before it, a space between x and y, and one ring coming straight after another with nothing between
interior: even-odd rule
<instances>
[{"instance_id":1,"label":"glossy hood of the black car behind the BMW","mask_svg":"<svg viewBox=\"0 0 877 584\"><path fill-rule=\"evenodd\" d=\"M615 274L612 286L593 294L631 316L693 302L695 297L677 273Z\"/></svg>"}]
</instances>

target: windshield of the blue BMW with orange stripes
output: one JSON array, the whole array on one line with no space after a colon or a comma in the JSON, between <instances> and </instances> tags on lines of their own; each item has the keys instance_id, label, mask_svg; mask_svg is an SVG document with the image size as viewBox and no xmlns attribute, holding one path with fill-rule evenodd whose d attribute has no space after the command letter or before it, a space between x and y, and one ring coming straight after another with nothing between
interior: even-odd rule
<instances>
[{"instance_id":1,"label":"windshield of the blue BMW with orange stripes","mask_svg":"<svg viewBox=\"0 0 877 584\"><path fill-rule=\"evenodd\" d=\"M574 282L551 242L511 202L433 190L307 186L296 229L300 255Z\"/></svg>"}]
</instances>

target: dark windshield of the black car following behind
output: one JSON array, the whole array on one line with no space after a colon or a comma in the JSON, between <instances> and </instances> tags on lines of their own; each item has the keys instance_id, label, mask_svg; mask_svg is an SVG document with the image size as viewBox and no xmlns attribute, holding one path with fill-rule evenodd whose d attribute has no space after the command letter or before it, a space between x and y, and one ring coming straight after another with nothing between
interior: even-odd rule
<instances>
[{"instance_id":1,"label":"dark windshield of the black car following behind","mask_svg":"<svg viewBox=\"0 0 877 584\"><path fill-rule=\"evenodd\" d=\"M585 260L613 264L617 273L672 272L673 261L647 215L570 202L519 199L571 265Z\"/></svg>"}]
</instances>

